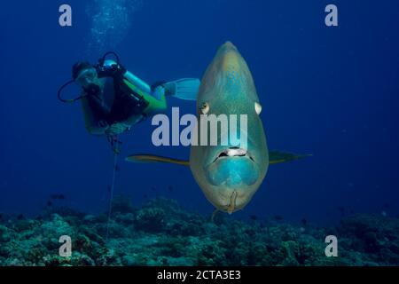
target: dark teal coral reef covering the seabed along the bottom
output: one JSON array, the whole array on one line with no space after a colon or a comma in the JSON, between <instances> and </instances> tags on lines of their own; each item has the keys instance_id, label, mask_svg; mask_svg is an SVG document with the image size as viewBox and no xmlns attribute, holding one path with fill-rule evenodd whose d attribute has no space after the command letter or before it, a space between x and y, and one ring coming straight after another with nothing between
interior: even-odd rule
<instances>
[{"instance_id":1,"label":"dark teal coral reef covering the seabed along the bottom","mask_svg":"<svg viewBox=\"0 0 399 284\"><path fill-rule=\"evenodd\" d=\"M134 208L113 201L106 215L46 209L39 217L2 217L0 265L399 265L399 219L345 217L320 228L284 222L248 222L187 212L176 201L157 198ZM325 256L325 236L336 235L339 256ZM72 255L59 256L61 235Z\"/></svg>"}]
</instances>

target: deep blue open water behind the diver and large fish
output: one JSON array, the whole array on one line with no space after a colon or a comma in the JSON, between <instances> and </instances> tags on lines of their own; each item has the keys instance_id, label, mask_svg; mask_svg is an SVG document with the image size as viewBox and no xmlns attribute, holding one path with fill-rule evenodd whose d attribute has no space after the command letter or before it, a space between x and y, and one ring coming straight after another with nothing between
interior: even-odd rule
<instances>
[{"instance_id":1,"label":"deep blue open water behind the diver and large fish","mask_svg":"<svg viewBox=\"0 0 399 284\"><path fill-rule=\"evenodd\" d=\"M0 211L36 214L53 193L69 206L106 211L110 146L84 129L78 103L57 99L75 61L94 63L112 50L148 83L201 77L229 40L254 76L270 149L313 154L270 166L253 201L231 217L325 224L339 220L338 208L399 213L396 1L68 0L73 26L66 28L61 4L0 8ZM338 27L325 26L326 4L337 5ZM168 106L195 112L192 102ZM136 204L162 195L210 214L189 169L123 161L133 153L188 157L187 147L153 146L153 129L147 120L121 136L115 193Z\"/></svg>"}]
</instances>

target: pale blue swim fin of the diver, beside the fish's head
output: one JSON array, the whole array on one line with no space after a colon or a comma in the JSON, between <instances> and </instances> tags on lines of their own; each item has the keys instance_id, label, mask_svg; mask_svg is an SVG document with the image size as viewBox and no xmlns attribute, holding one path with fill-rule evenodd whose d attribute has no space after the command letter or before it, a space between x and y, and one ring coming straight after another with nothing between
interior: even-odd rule
<instances>
[{"instance_id":1,"label":"pale blue swim fin of the diver, beside the fish's head","mask_svg":"<svg viewBox=\"0 0 399 284\"><path fill-rule=\"evenodd\" d=\"M165 84L172 97L185 100L197 100L200 79L184 78Z\"/></svg>"}]
</instances>

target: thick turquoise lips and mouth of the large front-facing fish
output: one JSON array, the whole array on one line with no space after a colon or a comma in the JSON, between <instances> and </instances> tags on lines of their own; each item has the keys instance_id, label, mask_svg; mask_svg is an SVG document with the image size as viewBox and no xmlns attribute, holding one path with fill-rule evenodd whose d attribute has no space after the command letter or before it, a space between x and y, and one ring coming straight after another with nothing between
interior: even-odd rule
<instances>
[{"instance_id":1,"label":"thick turquoise lips and mouth of the large front-facing fish","mask_svg":"<svg viewBox=\"0 0 399 284\"><path fill-rule=\"evenodd\" d=\"M207 181L211 185L227 185L238 188L254 185L259 178L259 169L246 149L231 147L219 154L204 167Z\"/></svg>"}]
</instances>

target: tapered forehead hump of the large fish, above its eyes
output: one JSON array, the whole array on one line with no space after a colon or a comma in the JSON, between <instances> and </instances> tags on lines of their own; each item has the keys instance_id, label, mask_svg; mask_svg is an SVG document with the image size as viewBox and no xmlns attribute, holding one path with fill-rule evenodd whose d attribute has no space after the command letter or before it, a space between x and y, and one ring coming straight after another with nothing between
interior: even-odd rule
<instances>
[{"instance_id":1,"label":"tapered forehead hump of the large fish, above its eyes","mask_svg":"<svg viewBox=\"0 0 399 284\"><path fill-rule=\"evenodd\" d=\"M254 79L238 49L230 42L224 43L207 67L198 95L198 107L207 102L216 104L223 100L259 102Z\"/></svg>"}]
</instances>

